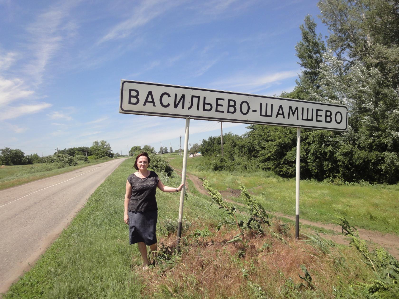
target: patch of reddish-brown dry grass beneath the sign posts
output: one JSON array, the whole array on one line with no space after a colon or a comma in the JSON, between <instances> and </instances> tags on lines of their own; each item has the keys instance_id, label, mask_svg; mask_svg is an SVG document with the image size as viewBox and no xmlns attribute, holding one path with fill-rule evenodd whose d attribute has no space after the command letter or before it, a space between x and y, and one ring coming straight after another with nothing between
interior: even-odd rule
<instances>
[{"instance_id":1,"label":"patch of reddish-brown dry grass beneath the sign posts","mask_svg":"<svg viewBox=\"0 0 399 299\"><path fill-rule=\"evenodd\" d=\"M320 256L312 246L293 238L293 228L286 228L282 222L275 220L270 230L263 235L246 232L244 241L228 244L237 234L233 227L223 227L217 231L212 224L193 224L186 233L181 253L172 255L172 260L159 264L144 272L143 281L147 281L142 289L143 296L176 297L176 298L262 298L257 296L253 285L261 287L267 294L265 298L286 297L287 281L298 284L304 281L300 268L305 265L313 277L313 287L302 287L295 295L300 298L324 297L334 298L333 285L340 284L341 275L351 272L357 279L364 268L356 265L348 266L337 263L342 260L341 254L336 256ZM208 227L210 236L198 236L194 232ZM284 240L276 238L276 234ZM161 238L160 244L165 248L175 246L176 237L170 235ZM265 248L264 244L269 244ZM264 248L264 249L263 249ZM161 248L162 249L162 248ZM357 256L350 251L351 259ZM346 252L348 254L348 252ZM355 258L356 260L356 258ZM361 264L361 263L360 263ZM337 266L338 265L338 266ZM342 268L342 269L341 269ZM356 273L359 271L359 273ZM363 275L367 276L367 275ZM367 279L367 277L363 277ZM288 288L289 291L289 288ZM291 290L295 292L295 290Z\"/></svg>"}]
</instances>

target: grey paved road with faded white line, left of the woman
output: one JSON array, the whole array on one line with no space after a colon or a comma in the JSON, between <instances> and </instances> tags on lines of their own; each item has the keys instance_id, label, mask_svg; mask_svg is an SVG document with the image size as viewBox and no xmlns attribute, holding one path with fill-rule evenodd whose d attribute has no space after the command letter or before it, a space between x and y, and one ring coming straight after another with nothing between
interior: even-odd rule
<instances>
[{"instance_id":1,"label":"grey paved road with faded white line, left of the woman","mask_svg":"<svg viewBox=\"0 0 399 299\"><path fill-rule=\"evenodd\" d=\"M0 191L0 293L30 269L29 264L45 252L95 189L125 159Z\"/></svg>"}]
</instances>

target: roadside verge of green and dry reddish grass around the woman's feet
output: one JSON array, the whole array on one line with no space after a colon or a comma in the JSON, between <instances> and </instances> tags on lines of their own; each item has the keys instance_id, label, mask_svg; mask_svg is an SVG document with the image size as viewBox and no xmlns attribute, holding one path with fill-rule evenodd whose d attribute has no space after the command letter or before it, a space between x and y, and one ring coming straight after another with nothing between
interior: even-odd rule
<instances>
[{"instance_id":1,"label":"roadside verge of green and dry reddish grass around the woman's feet","mask_svg":"<svg viewBox=\"0 0 399 299\"><path fill-rule=\"evenodd\" d=\"M245 242L227 243L237 229L216 229L225 214L191 181L180 254L169 250L176 241L179 194L158 190L160 250L156 266L140 271L140 254L128 245L123 222L125 182L133 171L126 160L107 177L4 298L362 298L357 283L375 278L358 250L322 238L318 244L295 241L293 228L277 218L265 234L246 232ZM181 180L161 179L169 186Z\"/></svg>"}]
</instances>

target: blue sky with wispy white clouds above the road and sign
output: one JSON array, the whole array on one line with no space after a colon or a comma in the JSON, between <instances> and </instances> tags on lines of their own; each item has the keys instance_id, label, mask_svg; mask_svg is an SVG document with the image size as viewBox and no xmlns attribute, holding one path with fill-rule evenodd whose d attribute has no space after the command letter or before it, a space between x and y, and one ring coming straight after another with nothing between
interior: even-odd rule
<instances>
[{"instance_id":1,"label":"blue sky with wispy white clouds above the road and sign","mask_svg":"<svg viewBox=\"0 0 399 299\"><path fill-rule=\"evenodd\" d=\"M119 114L120 79L279 95L314 0L0 0L0 148L51 155L106 140L114 153L178 149L184 119ZM223 122L223 132L246 125ZM191 120L191 145L220 135ZM182 138L183 146L183 138Z\"/></svg>"}]
</instances>

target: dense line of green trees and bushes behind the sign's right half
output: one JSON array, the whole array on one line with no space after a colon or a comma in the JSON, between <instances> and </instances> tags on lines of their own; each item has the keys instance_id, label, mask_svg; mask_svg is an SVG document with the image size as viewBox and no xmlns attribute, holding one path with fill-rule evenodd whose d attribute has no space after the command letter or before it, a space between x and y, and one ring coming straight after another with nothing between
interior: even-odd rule
<instances>
[{"instance_id":1,"label":"dense line of green trees and bushes behind the sign's right half","mask_svg":"<svg viewBox=\"0 0 399 299\"><path fill-rule=\"evenodd\" d=\"M399 3L322 0L317 33L306 16L296 56L303 68L292 92L280 96L348 106L346 132L301 131L301 178L336 182L399 181ZM296 129L250 125L243 136L203 140L212 169L264 169L293 177Z\"/></svg>"}]
</instances>

